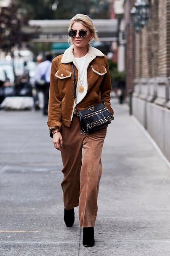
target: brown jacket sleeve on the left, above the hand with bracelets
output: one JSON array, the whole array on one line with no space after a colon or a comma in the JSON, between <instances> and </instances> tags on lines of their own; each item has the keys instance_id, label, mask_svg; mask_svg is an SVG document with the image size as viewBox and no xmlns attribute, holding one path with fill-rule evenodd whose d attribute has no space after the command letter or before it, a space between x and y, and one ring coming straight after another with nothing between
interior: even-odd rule
<instances>
[{"instance_id":1,"label":"brown jacket sleeve on the left, above the hand with bracelets","mask_svg":"<svg viewBox=\"0 0 170 256\"><path fill-rule=\"evenodd\" d=\"M61 123L61 100L58 89L58 78L55 76L57 72L57 66L55 61L51 64L51 76L50 76L50 92L49 92L49 103L48 103L48 128L50 130L55 129L57 126L59 130L62 127Z\"/></svg>"}]
</instances>

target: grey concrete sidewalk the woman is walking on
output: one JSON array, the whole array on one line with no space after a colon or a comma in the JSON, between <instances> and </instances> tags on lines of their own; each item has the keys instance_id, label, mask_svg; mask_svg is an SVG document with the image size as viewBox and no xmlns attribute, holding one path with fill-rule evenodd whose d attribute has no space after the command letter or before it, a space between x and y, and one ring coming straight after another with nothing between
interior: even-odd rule
<instances>
[{"instance_id":1,"label":"grey concrete sidewalk the woman is walking on","mask_svg":"<svg viewBox=\"0 0 170 256\"><path fill-rule=\"evenodd\" d=\"M46 117L0 110L0 256L170 255L170 167L128 106L112 106L92 248L78 208L73 227L64 224L62 162Z\"/></svg>"}]
</instances>

